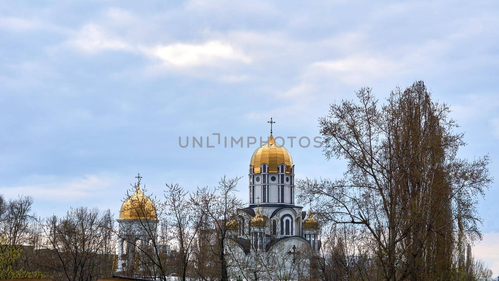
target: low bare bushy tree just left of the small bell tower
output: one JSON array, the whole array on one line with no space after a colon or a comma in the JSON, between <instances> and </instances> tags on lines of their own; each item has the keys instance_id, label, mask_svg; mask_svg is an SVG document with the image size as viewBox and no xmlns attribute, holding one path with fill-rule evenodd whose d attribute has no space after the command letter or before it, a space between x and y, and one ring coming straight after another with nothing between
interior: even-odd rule
<instances>
[{"instance_id":1,"label":"low bare bushy tree just left of the small bell tower","mask_svg":"<svg viewBox=\"0 0 499 281\"><path fill-rule=\"evenodd\" d=\"M39 222L34 260L52 280L94 281L110 276L114 259L109 210L71 208Z\"/></svg>"}]
</instances>

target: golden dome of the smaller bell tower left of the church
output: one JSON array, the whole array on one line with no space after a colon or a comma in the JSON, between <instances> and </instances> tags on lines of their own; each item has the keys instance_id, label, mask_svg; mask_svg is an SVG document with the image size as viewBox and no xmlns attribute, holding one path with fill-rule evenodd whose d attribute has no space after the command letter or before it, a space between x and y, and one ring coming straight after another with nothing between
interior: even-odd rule
<instances>
[{"instance_id":1,"label":"golden dome of the smaller bell tower left of the church","mask_svg":"<svg viewBox=\"0 0 499 281\"><path fill-rule=\"evenodd\" d=\"M123 202L118 219L156 219L154 203L142 193L140 186Z\"/></svg>"}]
</instances>

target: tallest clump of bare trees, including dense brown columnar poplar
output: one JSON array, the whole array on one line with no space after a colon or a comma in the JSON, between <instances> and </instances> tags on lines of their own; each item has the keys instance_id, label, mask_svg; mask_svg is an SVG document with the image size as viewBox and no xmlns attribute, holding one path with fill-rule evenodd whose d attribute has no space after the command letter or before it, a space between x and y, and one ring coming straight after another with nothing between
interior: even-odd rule
<instances>
[{"instance_id":1,"label":"tallest clump of bare trees, including dense brown columnar poplar","mask_svg":"<svg viewBox=\"0 0 499 281\"><path fill-rule=\"evenodd\" d=\"M332 104L319 119L327 158L348 162L338 180L298 181L319 216L369 233L370 252L387 280L448 279L458 228L481 237L476 205L492 178L489 157L459 159L465 143L449 107L431 100L422 81L396 88L379 105L370 88L359 104Z\"/></svg>"}]
</instances>

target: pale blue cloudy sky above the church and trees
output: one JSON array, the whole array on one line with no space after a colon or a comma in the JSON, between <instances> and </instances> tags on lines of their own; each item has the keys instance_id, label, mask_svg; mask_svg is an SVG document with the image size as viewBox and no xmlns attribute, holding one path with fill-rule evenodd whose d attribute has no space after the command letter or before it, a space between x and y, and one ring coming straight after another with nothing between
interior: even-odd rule
<instances>
[{"instance_id":1,"label":"pale blue cloudy sky above the church and trees","mask_svg":"<svg viewBox=\"0 0 499 281\"><path fill-rule=\"evenodd\" d=\"M453 110L459 156L488 154L497 175L498 13L497 1L1 1L0 193L31 195L41 217L81 205L117 217L139 172L159 196L226 174L244 176L246 199L247 137L266 138L270 117L296 177L341 177L344 160L297 139L360 87L382 102L415 80ZM498 198L493 183L474 247L494 276Z\"/></svg>"}]
</instances>

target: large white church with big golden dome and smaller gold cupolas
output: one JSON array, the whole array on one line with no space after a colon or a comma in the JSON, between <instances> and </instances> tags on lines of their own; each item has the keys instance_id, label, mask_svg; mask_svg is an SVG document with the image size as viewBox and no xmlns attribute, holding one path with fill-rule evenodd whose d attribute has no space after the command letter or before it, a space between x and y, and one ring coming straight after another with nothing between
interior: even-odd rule
<instances>
[{"instance_id":1,"label":"large white church with big golden dome and smaller gold cupolas","mask_svg":"<svg viewBox=\"0 0 499 281\"><path fill-rule=\"evenodd\" d=\"M294 201L295 166L289 151L268 141L252 154L248 199L237 210L230 234L241 249L247 279L298 279L310 275L311 259L320 249L319 225ZM232 248L233 252L237 252ZM242 271L240 271L242 272ZM234 272L237 274L237 272Z\"/></svg>"}]
</instances>

